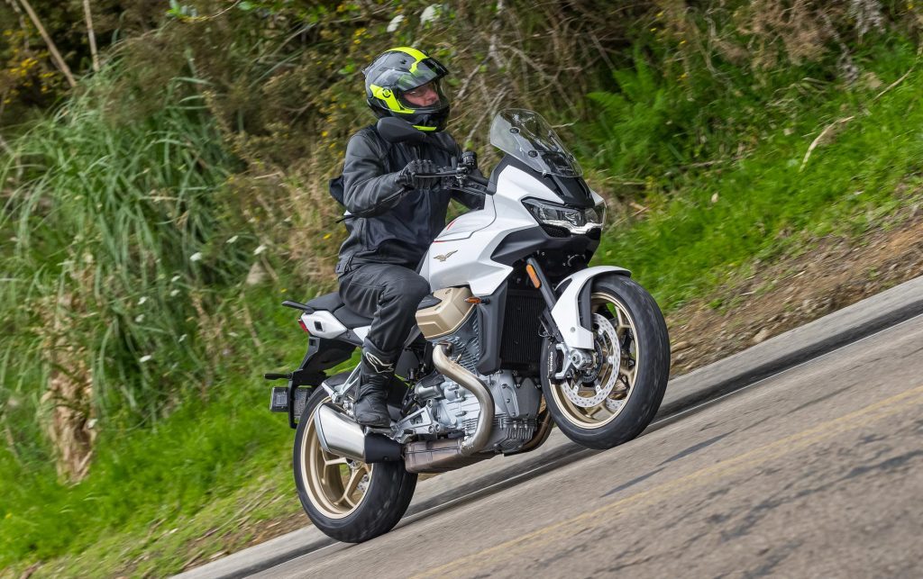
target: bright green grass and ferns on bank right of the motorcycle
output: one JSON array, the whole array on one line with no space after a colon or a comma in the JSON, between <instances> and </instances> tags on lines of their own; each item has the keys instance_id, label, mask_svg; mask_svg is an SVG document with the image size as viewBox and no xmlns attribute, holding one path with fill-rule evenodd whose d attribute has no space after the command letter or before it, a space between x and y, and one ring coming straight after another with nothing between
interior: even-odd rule
<instances>
[{"instance_id":1,"label":"bright green grass and ferns on bank right of the motorcycle","mask_svg":"<svg viewBox=\"0 0 923 579\"><path fill-rule=\"evenodd\" d=\"M879 83L820 81L793 67L757 89L733 68L722 71L729 87L707 82L704 69L665 77L636 53L633 68L616 72L617 91L593 95L593 145L618 179L644 183L647 210L609 225L597 261L634 270L670 310L812 238L880 224L907 201L902 188L918 194L923 73L908 41L861 56ZM848 117L803 162L814 138Z\"/></svg>"}]
</instances>

